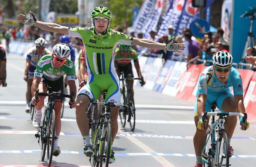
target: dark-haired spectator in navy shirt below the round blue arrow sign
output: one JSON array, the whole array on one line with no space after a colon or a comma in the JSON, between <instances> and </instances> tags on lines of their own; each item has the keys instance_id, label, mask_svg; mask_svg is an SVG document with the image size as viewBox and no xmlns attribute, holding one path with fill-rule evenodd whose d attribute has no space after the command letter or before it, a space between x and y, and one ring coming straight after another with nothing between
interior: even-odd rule
<instances>
[{"instance_id":1,"label":"dark-haired spectator in navy shirt below the round blue arrow sign","mask_svg":"<svg viewBox=\"0 0 256 167\"><path fill-rule=\"evenodd\" d=\"M192 40L192 34L190 32L185 32L185 39L188 42L188 61L195 58L199 51L199 42L197 40Z\"/></svg>"}]
</instances>

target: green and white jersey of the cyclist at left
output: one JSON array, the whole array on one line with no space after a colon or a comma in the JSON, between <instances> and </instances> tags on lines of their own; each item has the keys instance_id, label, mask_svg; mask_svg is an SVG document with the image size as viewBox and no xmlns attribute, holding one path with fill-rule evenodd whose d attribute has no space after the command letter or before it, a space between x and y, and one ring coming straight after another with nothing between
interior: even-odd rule
<instances>
[{"instance_id":1,"label":"green and white jersey of the cyclist at left","mask_svg":"<svg viewBox=\"0 0 256 167\"><path fill-rule=\"evenodd\" d=\"M75 80L75 66L71 60L67 59L63 66L59 69L55 69L52 64L52 55L44 55L37 63L34 76L55 81L65 74L67 74L68 80Z\"/></svg>"}]
</instances>

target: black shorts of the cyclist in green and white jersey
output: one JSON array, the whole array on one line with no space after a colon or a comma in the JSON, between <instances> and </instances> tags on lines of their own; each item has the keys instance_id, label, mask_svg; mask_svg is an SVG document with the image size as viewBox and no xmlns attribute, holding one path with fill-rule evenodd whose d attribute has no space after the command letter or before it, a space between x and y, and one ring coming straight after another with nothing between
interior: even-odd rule
<instances>
[{"instance_id":1,"label":"black shorts of the cyclist in green and white jersey","mask_svg":"<svg viewBox=\"0 0 256 167\"><path fill-rule=\"evenodd\" d=\"M51 92L57 92L58 94L64 92L63 77L55 81L50 81L42 77L40 84L45 85L47 90L49 90L49 87L51 87ZM62 102L62 98L56 98L55 101Z\"/></svg>"}]
</instances>

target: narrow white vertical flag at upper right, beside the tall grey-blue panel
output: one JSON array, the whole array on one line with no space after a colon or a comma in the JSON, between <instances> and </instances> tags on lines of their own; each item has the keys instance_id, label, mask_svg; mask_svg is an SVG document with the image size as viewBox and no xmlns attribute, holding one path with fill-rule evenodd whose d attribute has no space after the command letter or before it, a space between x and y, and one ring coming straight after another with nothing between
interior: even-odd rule
<instances>
[{"instance_id":1,"label":"narrow white vertical flag at upper right, beside the tall grey-blue panel","mask_svg":"<svg viewBox=\"0 0 256 167\"><path fill-rule=\"evenodd\" d=\"M232 0L225 0L222 3L220 27L224 30L223 37L227 40L229 40L230 38L231 15L232 15Z\"/></svg>"}]
</instances>

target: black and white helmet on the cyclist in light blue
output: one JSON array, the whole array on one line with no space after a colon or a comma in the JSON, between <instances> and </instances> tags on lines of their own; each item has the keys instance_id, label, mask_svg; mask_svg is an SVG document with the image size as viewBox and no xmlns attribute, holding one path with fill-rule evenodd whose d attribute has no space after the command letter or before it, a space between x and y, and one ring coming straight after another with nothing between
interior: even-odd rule
<instances>
[{"instance_id":1,"label":"black and white helmet on the cyclist in light blue","mask_svg":"<svg viewBox=\"0 0 256 167\"><path fill-rule=\"evenodd\" d=\"M226 51L218 51L212 57L212 63L217 68L229 68L232 66L233 57Z\"/></svg>"}]
</instances>

